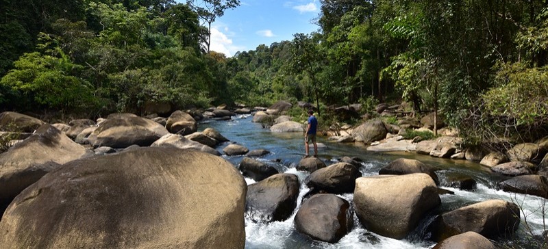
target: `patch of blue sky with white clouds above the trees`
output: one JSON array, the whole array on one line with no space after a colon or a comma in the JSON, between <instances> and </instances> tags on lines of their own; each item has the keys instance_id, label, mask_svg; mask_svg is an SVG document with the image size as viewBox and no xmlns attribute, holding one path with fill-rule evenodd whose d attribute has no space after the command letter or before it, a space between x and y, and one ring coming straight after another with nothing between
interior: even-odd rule
<instances>
[{"instance_id":1,"label":"patch of blue sky with white clouds above the trees","mask_svg":"<svg viewBox=\"0 0 548 249\"><path fill-rule=\"evenodd\" d=\"M313 24L319 11L318 0L240 0L238 8L212 24L211 50L230 57L260 44L292 40L295 33L309 34L319 29Z\"/></svg>"}]
</instances>

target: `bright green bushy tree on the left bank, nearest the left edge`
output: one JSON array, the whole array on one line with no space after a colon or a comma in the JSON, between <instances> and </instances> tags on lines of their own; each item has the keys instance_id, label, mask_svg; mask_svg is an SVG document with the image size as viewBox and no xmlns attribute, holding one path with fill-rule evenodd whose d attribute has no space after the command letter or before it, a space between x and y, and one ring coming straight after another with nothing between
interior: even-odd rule
<instances>
[{"instance_id":1,"label":"bright green bushy tree on the left bank, nearest the left edge","mask_svg":"<svg viewBox=\"0 0 548 249\"><path fill-rule=\"evenodd\" d=\"M39 41L41 52L25 53L0 80L1 85L24 96L18 107L61 110L95 107L97 100L92 86L79 77L82 66L73 64L51 36L40 34Z\"/></svg>"}]
</instances>

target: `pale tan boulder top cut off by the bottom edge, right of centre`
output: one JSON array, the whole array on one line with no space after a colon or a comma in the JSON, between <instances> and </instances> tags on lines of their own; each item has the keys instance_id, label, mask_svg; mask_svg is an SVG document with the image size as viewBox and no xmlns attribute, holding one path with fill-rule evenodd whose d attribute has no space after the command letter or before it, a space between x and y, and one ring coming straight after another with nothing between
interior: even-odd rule
<instances>
[{"instance_id":1,"label":"pale tan boulder top cut off by the bottom edge, right of centre","mask_svg":"<svg viewBox=\"0 0 548 249\"><path fill-rule=\"evenodd\" d=\"M432 249L497 249L497 247L479 233L466 232L444 239Z\"/></svg>"}]
</instances>

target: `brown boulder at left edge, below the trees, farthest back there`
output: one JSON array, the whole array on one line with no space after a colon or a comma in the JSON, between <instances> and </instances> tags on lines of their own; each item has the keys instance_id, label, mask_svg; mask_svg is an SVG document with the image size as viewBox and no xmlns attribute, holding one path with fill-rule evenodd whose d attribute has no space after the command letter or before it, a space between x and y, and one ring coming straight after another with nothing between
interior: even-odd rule
<instances>
[{"instance_id":1,"label":"brown boulder at left edge, below the trees, farthest back there","mask_svg":"<svg viewBox=\"0 0 548 249\"><path fill-rule=\"evenodd\" d=\"M45 124L45 122L25 114L16 112L2 112L0 114L1 131L33 132L42 124Z\"/></svg>"}]
</instances>

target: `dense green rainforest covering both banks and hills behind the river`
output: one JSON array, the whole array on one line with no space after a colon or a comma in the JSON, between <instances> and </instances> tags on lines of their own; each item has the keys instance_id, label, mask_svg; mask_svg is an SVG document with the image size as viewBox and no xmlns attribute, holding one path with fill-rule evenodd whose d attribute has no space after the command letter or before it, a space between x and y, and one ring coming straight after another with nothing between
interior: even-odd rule
<instances>
[{"instance_id":1,"label":"dense green rainforest covering both banks and hills behind the river","mask_svg":"<svg viewBox=\"0 0 548 249\"><path fill-rule=\"evenodd\" d=\"M0 106L97 117L406 101L477 140L546 132L545 1L320 2L317 32L227 57L209 30L238 0L0 0Z\"/></svg>"}]
</instances>

